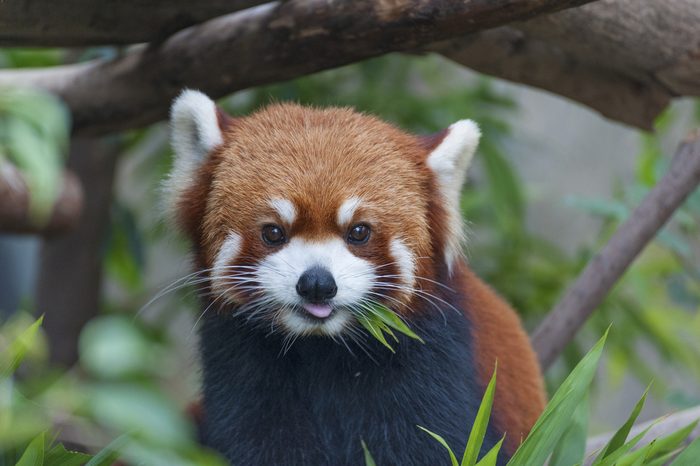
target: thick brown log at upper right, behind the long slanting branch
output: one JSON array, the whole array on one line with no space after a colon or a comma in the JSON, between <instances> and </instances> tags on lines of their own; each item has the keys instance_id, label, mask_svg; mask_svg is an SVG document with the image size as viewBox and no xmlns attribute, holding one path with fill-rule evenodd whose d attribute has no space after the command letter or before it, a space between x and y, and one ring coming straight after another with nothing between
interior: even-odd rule
<instances>
[{"instance_id":1,"label":"thick brown log at upper right, behind the long slanting branch","mask_svg":"<svg viewBox=\"0 0 700 466\"><path fill-rule=\"evenodd\" d=\"M697 0L601 0L429 49L651 129L671 98L700 95L698 22Z\"/></svg>"}]
</instances>

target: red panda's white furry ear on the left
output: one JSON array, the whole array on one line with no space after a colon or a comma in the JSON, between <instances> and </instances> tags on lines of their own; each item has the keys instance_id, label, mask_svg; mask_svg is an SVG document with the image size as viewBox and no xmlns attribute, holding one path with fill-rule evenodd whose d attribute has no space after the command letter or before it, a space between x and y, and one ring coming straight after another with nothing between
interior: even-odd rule
<instances>
[{"instance_id":1,"label":"red panda's white furry ear on the left","mask_svg":"<svg viewBox=\"0 0 700 466\"><path fill-rule=\"evenodd\" d=\"M170 138L175 158L163 195L172 213L180 194L194 181L197 168L223 143L216 104L199 91L184 90L170 108Z\"/></svg>"}]
</instances>

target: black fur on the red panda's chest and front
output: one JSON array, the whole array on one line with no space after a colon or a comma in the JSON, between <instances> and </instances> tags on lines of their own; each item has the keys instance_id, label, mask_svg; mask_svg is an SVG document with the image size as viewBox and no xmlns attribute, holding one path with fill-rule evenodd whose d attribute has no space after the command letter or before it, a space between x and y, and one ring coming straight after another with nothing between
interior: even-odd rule
<instances>
[{"instance_id":1,"label":"black fur on the red panda's chest and front","mask_svg":"<svg viewBox=\"0 0 700 466\"><path fill-rule=\"evenodd\" d=\"M412 326L425 344L401 336L396 354L369 336L364 349L299 338L283 354L280 336L209 314L201 331L204 443L234 465L361 466L361 440L379 466L449 464L416 426L464 448L484 389L468 322L449 309ZM483 451L499 438L489 427Z\"/></svg>"}]
</instances>

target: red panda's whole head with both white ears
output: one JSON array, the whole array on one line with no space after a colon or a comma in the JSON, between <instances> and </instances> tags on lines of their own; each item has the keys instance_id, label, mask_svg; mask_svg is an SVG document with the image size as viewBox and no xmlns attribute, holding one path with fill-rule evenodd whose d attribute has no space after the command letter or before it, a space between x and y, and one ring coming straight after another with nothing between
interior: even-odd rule
<instances>
[{"instance_id":1,"label":"red panda's whole head with both white ears","mask_svg":"<svg viewBox=\"0 0 700 466\"><path fill-rule=\"evenodd\" d=\"M421 138L347 108L232 119L185 91L171 126L170 214L216 299L268 328L334 335L373 302L409 316L460 260L472 121Z\"/></svg>"}]
</instances>

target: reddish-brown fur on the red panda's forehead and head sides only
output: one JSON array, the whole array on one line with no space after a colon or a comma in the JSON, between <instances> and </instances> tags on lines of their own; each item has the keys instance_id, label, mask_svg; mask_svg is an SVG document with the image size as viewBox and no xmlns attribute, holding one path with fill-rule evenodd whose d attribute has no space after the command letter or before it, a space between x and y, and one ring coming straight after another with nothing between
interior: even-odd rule
<instances>
[{"instance_id":1,"label":"reddish-brown fur on the red panda's forehead and head sides only","mask_svg":"<svg viewBox=\"0 0 700 466\"><path fill-rule=\"evenodd\" d=\"M243 236L241 263L271 253L260 228L283 222L270 199L295 205L294 225L284 225L289 236L321 239L342 237L347 226L337 225L338 208L356 196L362 204L355 217L370 223L372 241L353 252L388 264L395 260L389 241L401 238L417 257L416 276L434 278L426 258L439 253L433 239L443 223L435 218L441 207L415 136L350 109L274 105L227 124L224 140L179 204L181 223L201 245L202 266L211 266L231 231ZM428 289L429 283L420 285Z\"/></svg>"}]
</instances>

